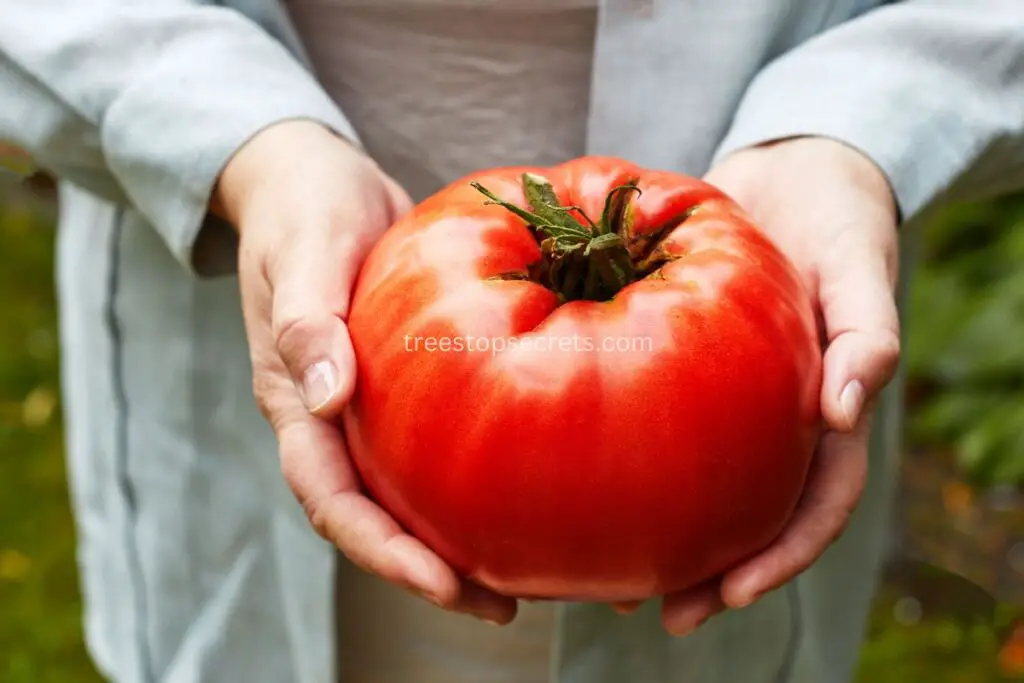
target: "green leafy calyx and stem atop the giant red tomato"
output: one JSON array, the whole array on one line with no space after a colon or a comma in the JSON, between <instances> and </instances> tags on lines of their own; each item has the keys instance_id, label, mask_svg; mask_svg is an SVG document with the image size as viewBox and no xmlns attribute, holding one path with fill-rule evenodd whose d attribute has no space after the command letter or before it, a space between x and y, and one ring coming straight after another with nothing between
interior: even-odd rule
<instances>
[{"instance_id":1,"label":"green leafy calyx and stem atop the giant red tomato","mask_svg":"<svg viewBox=\"0 0 1024 683\"><path fill-rule=\"evenodd\" d=\"M640 279L626 246L630 199L634 193L640 194L635 182L608 193L598 222L580 207L562 206L551 183L539 175L522 175L528 208L502 200L478 182L471 184L487 198L486 204L504 207L526 221L541 245L542 262L528 274L508 273L498 279L534 280L563 301L606 301Z\"/></svg>"}]
</instances>

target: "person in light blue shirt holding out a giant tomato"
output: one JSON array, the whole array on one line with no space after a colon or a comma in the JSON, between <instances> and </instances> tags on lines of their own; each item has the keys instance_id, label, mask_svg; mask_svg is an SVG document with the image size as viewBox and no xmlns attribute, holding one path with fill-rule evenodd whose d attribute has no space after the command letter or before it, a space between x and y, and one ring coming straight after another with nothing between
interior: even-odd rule
<instances>
[{"instance_id":1,"label":"person in light blue shirt holding out a giant tomato","mask_svg":"<svg viewBox=\"0 0 1024 683\"><path fill-rule=\"evenodd\" d=\"M1024 186L1017 0L3 14L0 137L60 180L71 483L110 680L851 680L899 452L912 228ZM827 339L827 430L791 525L720 582L622 613L460 580L360 496L330 420L353 388L352 282L389 224L472 170L585 154L731 195Z\"/></svg>"}]
</instances>

